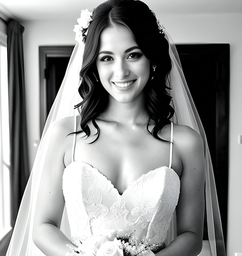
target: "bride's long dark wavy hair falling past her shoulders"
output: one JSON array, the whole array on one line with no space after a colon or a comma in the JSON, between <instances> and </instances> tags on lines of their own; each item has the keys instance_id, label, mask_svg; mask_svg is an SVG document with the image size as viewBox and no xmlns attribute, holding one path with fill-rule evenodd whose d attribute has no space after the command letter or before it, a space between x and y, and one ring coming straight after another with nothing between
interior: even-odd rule
<instances>
[{"instance_id":1,"label":"bride's long dark wavy hair falling past her shoulders","mask_svg":"<svg viewBox=\"0 0 242 256\"><path fill-rule=\"evenodd\" d=\"M108 0L93 11L92 22L85 40L80 72L81 85L78 89L83 101L76 105L81 114L81 132L85 132L88 137L90 135L88 122L92 121L99 136L99 127L95 119L108 106L109 94L101 82L96 81L96 77L99 77L96 58L102 31L114 25L128 27L141 51L150 60L150 79L144 88L145 108L150 116L147 130L151 120L154 121L155 126L151 134L160 139L157 133L170 122L169 119L174 114L174 109L170 106L171 97L168 94L168 75L171 70L169 45L159 31L155 14L139 0ZM155 72L152 70L152 64L156 65Z\"/></svg>"}]
</instances>

